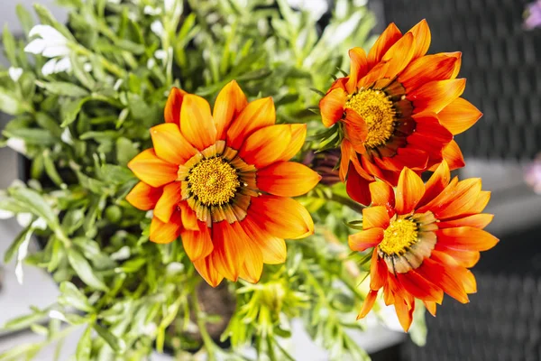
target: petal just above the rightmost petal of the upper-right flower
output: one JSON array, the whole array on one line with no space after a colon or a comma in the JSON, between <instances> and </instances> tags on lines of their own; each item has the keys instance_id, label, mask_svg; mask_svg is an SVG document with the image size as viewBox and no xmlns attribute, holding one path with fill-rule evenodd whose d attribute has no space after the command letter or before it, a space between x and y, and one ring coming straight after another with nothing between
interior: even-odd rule
<instances>
[{"instance_id":1,"label":"petal just above the rightmost petal of the upper-right flower","mask_svg":"<svg viewBox=\"0 0 541 361\"><path fill-rule=\"evenodd\" d=\"M413 102L416 113L439 113L445 106L463 94L466 79L448 79L430 81L408 93L408 100Z\"/></svg>"}]
</instances>

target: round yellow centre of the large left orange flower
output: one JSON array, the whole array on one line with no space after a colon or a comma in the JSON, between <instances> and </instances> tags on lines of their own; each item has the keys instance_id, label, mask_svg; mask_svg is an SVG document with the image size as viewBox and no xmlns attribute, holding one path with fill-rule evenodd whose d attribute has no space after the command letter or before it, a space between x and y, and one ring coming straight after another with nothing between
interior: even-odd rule
<instances>
[{"instance_id":1,"label":"round yellow centre of the large left orange flower","mask_svg":"<svg viewBox=\"0 0 541 361\"><path fill-rule=\"evenodd\" d=\"M241 183L235 169L223 158L198 162L188 174L189 190L206 206L218 206L234 198Z\"/></svg>"}]
</instances>

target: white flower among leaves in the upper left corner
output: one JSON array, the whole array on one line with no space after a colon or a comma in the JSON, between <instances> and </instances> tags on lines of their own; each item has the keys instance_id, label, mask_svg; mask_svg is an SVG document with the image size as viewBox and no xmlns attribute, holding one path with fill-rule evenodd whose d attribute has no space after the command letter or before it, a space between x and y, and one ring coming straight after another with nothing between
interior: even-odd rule
<instances>
[{"instance_id":1,"label":"white flower among leaves in the upper left corner","mask_svg":"<svg viewBox=\"0 0 541 361\"><path fill-rule=\"evenodd\" d=\"M50 25L35 25L28 33L32 37L38 35L38 38L29 42L24 51L32 54L41 55L45 58L51 58L41 68L44 76L50 74L69 71L71 61L69 60L69 41L64 35Z\"/></svg>"}]
</instances>

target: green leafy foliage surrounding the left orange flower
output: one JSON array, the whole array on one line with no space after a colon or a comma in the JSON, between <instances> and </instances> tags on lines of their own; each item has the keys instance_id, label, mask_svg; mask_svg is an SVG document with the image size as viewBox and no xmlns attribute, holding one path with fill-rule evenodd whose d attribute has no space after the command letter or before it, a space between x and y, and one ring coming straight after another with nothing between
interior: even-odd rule
<instances>
[{"instance_id":1,"label":"green leafy foliage surrounding the left orange flower","mask_svg":"<svg viewBox=\"0 0 541 361\"><path fill-rule=\"evenodd\" d=\"M69 71L44 75L49 59L23 51L32 39L3 32L6 57L22 74L13 79L0 69L0 111L14 116L0 144L23 142L32 161L28 185L0 195L0 209L32 215L5 261L25 255L24 240L37 234L41 251L25 261L51 273L61 294L50 308L5 325L31 326L46 339L0 360L30 358L74 329L85 329L78 361L139 360L154 346L179 354L203 346L209 359L245 359L239 349L252 342L260 356L291 359L284 340L292 318L302 319L333 359L367 358L347 331L362 327L354 319L365 273L344 243L349 228L342 219L359 218L360 209L343 186L318 187L302 199L318 227L315 236L289 243L287 264L266 266L256 285L229 284L237 306L223 338L231 350L206 331L215 317L200 309L201 279L181 243L148 242L150 219L124 198L137 181L126 163L151 147L149 128L163 122L172 86L212 103L236 79L248 97L273 97L279 122L307 123L312 141L305 148L315 149L324 129L308 109L347 66L347 50L371 45L373 15L339 0L321 32L316 19L284 0L176 0L165 2L168 11L158 0L58 3L69 8L67 25L41 5L37 19L23 6L17 15L26 34L37 21L66 38ZM187 336L194 324L203 345Z\"/></svg>"}]
</instances>

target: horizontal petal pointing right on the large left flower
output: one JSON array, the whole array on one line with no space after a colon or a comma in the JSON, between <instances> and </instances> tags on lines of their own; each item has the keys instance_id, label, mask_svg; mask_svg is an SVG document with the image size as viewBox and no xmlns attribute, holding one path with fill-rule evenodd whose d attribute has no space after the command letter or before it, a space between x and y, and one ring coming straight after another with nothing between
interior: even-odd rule
<instances>
[{"instance_id":1,"label":"horizontal petal pointing right on the large left flower","mask_svg":"<svg viewBox=\"0 0 541 361\"><path fill-rule=\"evenodd\" d=\"M257 171L257 188L281 197L298 197L316 187L321 176L297 162L276 162Z\"/></svg>"}]
</instances>

